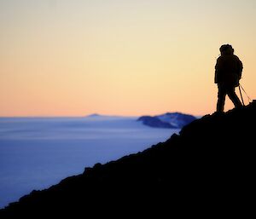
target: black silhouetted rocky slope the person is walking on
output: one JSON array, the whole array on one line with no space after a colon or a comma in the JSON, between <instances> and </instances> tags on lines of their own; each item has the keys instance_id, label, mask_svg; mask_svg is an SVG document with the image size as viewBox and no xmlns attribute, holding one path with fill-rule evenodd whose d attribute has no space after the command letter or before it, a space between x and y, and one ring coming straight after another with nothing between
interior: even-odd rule
<instances>
[{"instance_id":1,"label":"black silhouetted rocky slope the person is walking on","mask_svg":"<svg viewBox=\"0 0 256 219\"><path fill-rule=\"evenodd\" d=\"M32 191L0 217L253 216L255 124L255 103L195 119L141 153Z\"/></svg>"}]
</instances>

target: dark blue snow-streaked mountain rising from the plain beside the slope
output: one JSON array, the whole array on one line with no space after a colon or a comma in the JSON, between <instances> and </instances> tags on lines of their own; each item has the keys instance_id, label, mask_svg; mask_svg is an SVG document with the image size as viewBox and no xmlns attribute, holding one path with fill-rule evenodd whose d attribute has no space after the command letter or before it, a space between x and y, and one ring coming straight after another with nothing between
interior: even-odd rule
<instances>
[{"instance_id":1,"label":"dark blue snow-streaked mountain rising from the plain beside the slope","mask_svg":"<svg viewBox=\"0 0 256 219\"><path fill-rule=\"evenodd\" d=\"M189 114L181 112L167 112L158 116L143 116L137 119L137 121L143 121L143 124L155 128L167 128L167 129L181 129L184 125L187 125L194 121L196 118Z\"/></svg>"}]
</instances>

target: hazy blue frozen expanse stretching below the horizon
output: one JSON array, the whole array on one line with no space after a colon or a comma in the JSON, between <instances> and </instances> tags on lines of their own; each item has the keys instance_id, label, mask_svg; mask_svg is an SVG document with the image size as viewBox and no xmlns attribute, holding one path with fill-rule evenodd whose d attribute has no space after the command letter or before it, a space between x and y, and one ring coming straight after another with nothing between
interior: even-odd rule
<instances>
[{"instance_id":1,"label":"hazy blue frozen expanse stretching below the horizon","mask_svg":"<svg viewBox=\"0 0 256 219\"><path fill-rule=\"evenodd\" d=\"M0 118L0 208L178 132L131 117Z\"/></svg>"}]
</instances>

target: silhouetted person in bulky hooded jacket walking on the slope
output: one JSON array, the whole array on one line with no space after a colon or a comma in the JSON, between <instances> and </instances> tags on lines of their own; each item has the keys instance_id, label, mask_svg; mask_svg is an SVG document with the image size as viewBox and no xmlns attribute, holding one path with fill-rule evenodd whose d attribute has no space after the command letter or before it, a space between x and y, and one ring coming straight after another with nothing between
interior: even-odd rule
<instances>
[{"instance_id":1,"label":"silhouetted person in bulky hooded jacket walking on the slope","mask_svg":"<svg viewBox=\"0 0 256 219\"><path fill-rule=\"evenodd\" d=\"M217 112L223 112L226 95L230 97L235 107L242 107L235 89L239 86L243 66L240 59L234 55L234 49L230 44L222 45L219 51L214 83L218 84Z\"/></svg>"}]
</instances>

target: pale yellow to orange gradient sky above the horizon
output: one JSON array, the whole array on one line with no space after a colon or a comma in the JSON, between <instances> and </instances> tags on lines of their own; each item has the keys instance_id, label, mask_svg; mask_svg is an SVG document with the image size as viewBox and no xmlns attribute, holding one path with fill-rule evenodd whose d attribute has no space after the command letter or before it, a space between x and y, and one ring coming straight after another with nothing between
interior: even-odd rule
<instances>
[{"instance_id":1,"label":"pale yellow to orange gradient sky above the horizon","mask_svg":"<svg viewBox=\"0 0 256 219\"><path fill-rule=\"evenodd\" d=\"M0 116L212 113L223 43L253 99L255 0L0 0Z\"/></svg>"}]
</instances>

